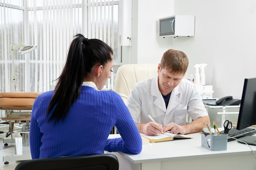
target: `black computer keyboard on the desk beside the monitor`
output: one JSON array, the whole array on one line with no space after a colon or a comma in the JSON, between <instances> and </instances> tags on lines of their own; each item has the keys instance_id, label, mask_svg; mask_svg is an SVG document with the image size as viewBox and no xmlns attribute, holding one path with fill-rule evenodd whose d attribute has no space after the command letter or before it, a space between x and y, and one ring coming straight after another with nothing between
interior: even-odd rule
<instances>
[{"instance_id":1,"label":"black computer keyboard on the desk beside the monitor","mask_svg":"<svg viewBox=\"0 0 256 170\"><path fill-rule=\"evenodd\" d=\"M224 134L224 131L220 131L221 134ZM252 129L252 128L245 128L245 129L241 129L238 130L236 128L232 128L229 130L229 136L234 137L236 139L243 137L243 136L249 136L249 135L253 135L256 133L256 129ZM230 137L228 137L227 141L232 141L235 139L232 139Z\"/></svg>"}]
</instances>

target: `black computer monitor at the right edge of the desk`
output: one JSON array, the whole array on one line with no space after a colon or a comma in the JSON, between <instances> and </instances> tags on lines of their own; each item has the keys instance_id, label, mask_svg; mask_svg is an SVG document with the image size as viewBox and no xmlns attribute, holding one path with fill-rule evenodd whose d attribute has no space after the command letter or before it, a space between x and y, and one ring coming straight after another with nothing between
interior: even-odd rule
<instances>
[{"instance_id":1,"label":"black computer monitor at the right edge of the desk","mask_svg":"<svg viewBox=\"0 0 256 170\"><path fill-rule=\"evenodd\" d=\"M256 78L245 78L236 129L241 130L254 124L256 124Z\"/></svg>"}]
</instances>

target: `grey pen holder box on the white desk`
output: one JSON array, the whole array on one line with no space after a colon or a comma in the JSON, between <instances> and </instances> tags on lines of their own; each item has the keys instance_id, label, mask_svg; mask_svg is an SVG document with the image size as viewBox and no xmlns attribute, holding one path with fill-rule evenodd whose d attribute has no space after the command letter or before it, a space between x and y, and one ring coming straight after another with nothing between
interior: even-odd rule
<instances>
[{"instance_id":1,"label":"grey pen holder box on the white desk","mask_svg":"<svg viewBox=\"0 0 256 170\"><path fill-rule=\"evenodd\" d=\"M228 135L207 135L202 134L201 146L209 150L227 150Z\"/></svg>"}]
</instances>

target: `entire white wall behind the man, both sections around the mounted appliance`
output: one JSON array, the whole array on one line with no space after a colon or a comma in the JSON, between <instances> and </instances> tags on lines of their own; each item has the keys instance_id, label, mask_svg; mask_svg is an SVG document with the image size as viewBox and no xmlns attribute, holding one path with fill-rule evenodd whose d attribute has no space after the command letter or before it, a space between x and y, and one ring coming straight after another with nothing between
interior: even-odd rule
<instances>
[{"instance_id":1,"label":"entire white wall behind the man, both sections around the mounted appliance","mask_svg":"<svg viewBox=\"0 0 256 170\"><path fill-rule=\"evenodd\" d=\"M195 15L194 37L158 37L158 19L173 14ZM159 63L166 50L182 50L187 75L196 63L208 64L214 98L241 98L244 78L256 77L256 1L133 0L132 15L132 46L123 48L130 63Z\"/></svg>"}]
</instances>

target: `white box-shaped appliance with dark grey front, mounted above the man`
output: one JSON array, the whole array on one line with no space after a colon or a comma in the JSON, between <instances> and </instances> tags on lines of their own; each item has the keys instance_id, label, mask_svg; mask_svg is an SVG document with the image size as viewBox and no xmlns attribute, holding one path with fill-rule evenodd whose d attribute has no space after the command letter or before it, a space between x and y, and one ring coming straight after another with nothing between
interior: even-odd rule
<instances>
[{"instance_id":1,"label":"white box-shaped appliance with dark grey front, mounted above the man","mask_svg":"<svg viewBox=\"0 0 256 170\"><path fill-rule=\"evenodd\" d=\"M173 15L159 19L159 37L190 37L194 35L194 15Z\"/></svg>"}]
</instances>

